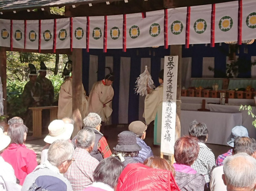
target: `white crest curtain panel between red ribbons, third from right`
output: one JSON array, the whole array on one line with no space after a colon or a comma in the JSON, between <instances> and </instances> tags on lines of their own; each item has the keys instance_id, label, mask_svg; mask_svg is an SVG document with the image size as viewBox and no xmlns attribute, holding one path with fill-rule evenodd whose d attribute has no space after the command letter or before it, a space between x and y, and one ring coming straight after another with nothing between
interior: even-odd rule
<instances>
[{"instance_id":1,"label":"white crest curtain panel between red ribbons, third from right","mask_svg":"<svg viewBox=\"0 0 256 191\"><path fill-rule=\"evenodd\" d=\"M189 44L211 43L211 5L191 7Z\"/></svg>"}]
</instances>

